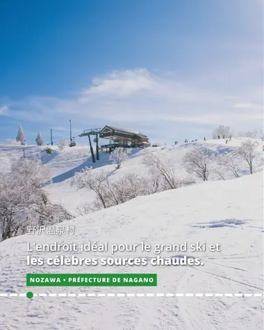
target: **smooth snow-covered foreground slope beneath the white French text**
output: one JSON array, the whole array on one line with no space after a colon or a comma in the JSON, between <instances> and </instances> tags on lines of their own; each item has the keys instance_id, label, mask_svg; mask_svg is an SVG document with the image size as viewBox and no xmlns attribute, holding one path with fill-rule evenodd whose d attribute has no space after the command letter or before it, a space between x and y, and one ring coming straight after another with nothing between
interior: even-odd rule
<instances>
[{"instance_id":1,"label":"smooth snow-covered foreground slope beneath the white French text","mask_svg":"<svg viewBox=\"0 0 264 330\"><path fill-rule=\"evenodd\" d=\"M173 149L173 148L172 148ZM163 151L159 151L163 152ZM137 159L135 157L135 159ZM132 163L132 160L131 160ZM130 163L129 166L133 166ZM74 236L20 236L0 244L0 291L24 293L25 275L57 273L157 273L158 286L32 288L34 293L76 293L76 297L0 297L0 329L40 330L226 330L263 329L263 174L229 181L210 181L138 197L126 204L78 217ZM26 242L177 244L220 243L220 252L186 252L204 265L143 267L26 266ZM67 255L71 255L69 253ZM176 252L161 256L173 258ZM183 253L181 253L183 254ZM43 255L39 253L39 256ZM49 254L44 254L45 257ZM101 252L79 254L108 257ZM115 257L131 256L118 253ZM133 256L153 257L152 253ZM117 297L118 293L143 297ZM95 293L96 297L78 297ZM98 297L113 293L115 297ZM193 294L190 297L146 297L147 293ZM196 294L219 297L195 297ZM235 297L247 293L251 297ZM231 297L225 297L231 294ZM257 294L257 296L254 296ZM223 295L223 296L221 296ZM259 297L261 296L261 297Z\"/></svg>"}]
</instances>

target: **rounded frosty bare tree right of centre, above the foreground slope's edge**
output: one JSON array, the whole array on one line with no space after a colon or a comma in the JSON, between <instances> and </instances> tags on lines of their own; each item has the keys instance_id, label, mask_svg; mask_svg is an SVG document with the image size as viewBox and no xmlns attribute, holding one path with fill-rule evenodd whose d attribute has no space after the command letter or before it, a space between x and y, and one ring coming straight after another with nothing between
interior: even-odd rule
<instances>
[{"instance_id":1,"label":"rounded frosty bare tree right of centre, above the foreground slope's edge","mask_svg":"<svg viewBox=\"0 0 264 330\"><path fill-rule=\"evenodd\" d=\"M208 181L211 151L207 147L197 147L188 151L183 158L183 165L188 173L195 173L199 178Z\"/></svg>"}]
</instances>

